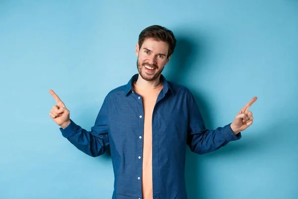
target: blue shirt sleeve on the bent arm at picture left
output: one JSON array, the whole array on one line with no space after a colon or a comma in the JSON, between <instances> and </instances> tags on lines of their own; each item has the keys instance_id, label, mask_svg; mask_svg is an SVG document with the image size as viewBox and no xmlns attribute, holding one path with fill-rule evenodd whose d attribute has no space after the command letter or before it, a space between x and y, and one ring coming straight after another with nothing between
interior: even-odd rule
<instances>
[{"instance_id":1,"label":"blue shirt sleeve on the bent arm at picture left","mask_svg":"<svg viewBox=\"0 0 298 199\"><path fill-rule=\"evenodd\" d=\"M75 124L73 120L65 128L60 128L62 135L77 149L92 157L104 154L109 147L108 139L108 103L105 98L91 131Z\"/></svg>"}]
</instances>

